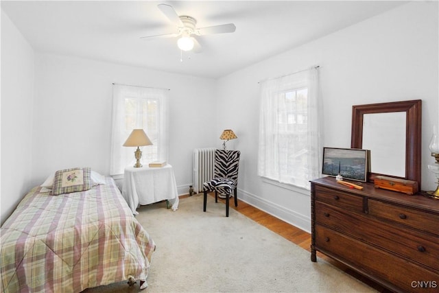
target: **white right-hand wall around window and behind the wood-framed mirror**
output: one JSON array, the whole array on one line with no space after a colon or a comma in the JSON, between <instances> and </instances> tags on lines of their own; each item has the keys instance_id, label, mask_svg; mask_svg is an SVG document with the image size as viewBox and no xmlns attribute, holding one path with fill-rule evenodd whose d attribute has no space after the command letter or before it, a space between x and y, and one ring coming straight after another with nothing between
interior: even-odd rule
<instances>
[{"instance_id":1,"label":"white right-hand wall around window and behind the wood-framed mirror","mask_svg":"<svg viewBox=\"0 0 439 293\"><path fill-rule=\"evenodd\" d=\"M355 104L423 100L422 187L436 188L427 165L431 124L438 124L438 3L412 2L230 74L217 82L222 113L217 132L237 130L241 198L307 231L309 191L289 190L257 176L259 84L265 78L320 65L324 146L350 148ZM229 108L230 109L230 108Z\"/></svg>"}]
</instances>

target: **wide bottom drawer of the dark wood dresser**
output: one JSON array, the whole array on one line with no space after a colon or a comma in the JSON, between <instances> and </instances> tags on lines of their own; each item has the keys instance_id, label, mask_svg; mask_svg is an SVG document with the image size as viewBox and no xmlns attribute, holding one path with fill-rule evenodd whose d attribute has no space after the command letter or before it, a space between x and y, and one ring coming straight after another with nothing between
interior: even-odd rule
<instances>
[{"instance_id":1,"label":"wide bottom drawer of the dark wood dresser","mask_svg":"<svg viewBox=\"0 0 439 293\"><path fill-rule=\"evenodd\" d=\"M415 263L395 257L363 242L316 224L316 248L344 261L370 276L379 276L407 292L436 292L437 288L414 288L413 282L430 281L439 284L439 274Z\"/></svg>"}]
</instances>

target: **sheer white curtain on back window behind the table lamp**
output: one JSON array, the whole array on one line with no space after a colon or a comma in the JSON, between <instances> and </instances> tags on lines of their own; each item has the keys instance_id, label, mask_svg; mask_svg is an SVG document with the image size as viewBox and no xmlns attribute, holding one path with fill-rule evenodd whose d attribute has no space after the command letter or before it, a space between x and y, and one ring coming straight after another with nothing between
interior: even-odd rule
<instances>
[{"instance_id":1,"label":"sheer white curtain on back window behind the table lamp","mask_svg":"<svg viewBox=\"0 0 439 293\"><path fill-rule=\"evenodd\" d=\"M167 161L169 102L167 89L113 84L110 175L134 165L136 148L123 147L133 129L142 128L152 145L141 147L143 164Z\"/></svg>"}]
</instances>

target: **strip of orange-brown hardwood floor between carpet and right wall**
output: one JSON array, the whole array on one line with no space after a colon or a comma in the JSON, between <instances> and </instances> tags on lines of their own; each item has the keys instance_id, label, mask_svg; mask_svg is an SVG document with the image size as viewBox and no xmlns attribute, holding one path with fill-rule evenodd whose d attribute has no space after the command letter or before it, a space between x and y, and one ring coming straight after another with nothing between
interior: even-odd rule
<instances>
[{"instance_id":1,"label":"strip of orange-brown hardwood floor between carpet and right wall","mask_svg":"<svg viewBox=\"0 0 439 293\"><path fill-rule=\"evenodd\" d=\"M215 197L215 194L211 193L210 196ZM183 197L187 197L187 196L181 196L180 198ZM223 200L221 198L219 198L218 200L224 203L226 202L226 200ZM238 198L238 207L235 207L235 204L233 203L233 199L230 200L230 208L239 211L239 213L246 215L246 217L254 220L254 222L257 222L265 226L266 228L269 228L274 233L281 235L285 239L293 242L294 244L300 246L301 248L308 251L311 250L311 235L301 230L300 228L288 224L283 220L279 220L278 218L268 213L265 213L264 211L261 211L260 209L257 209L256 207L253 207L252 205L246 202L239 200L239 198ZM377 290L378 292L383 292L383 293L392 292L390 290L383 288L381 285L375 283L374 281L371 281L370 279L362 276L361 274L354 272L353 270L345 266L343 263L340 263L339 261L335 261L334 259L331 259L330 257L327 257L326 255L323 255L322 253L319 252L317 253L317 256L331 263L333 266L339 268L340 270L346 272L346 274L351 274L351 276L355 277L359 281L362 281L363 283L366 283L367 285ZM309 261L311 261L311 255Z\"/></svg>"}]
</instances>

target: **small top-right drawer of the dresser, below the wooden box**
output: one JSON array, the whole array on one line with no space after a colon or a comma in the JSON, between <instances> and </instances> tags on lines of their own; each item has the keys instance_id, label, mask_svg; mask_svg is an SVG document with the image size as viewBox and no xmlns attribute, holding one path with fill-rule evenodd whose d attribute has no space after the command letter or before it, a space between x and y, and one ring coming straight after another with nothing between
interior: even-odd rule
<instances>
[{"instance_id":1,"label":"small top-right drawer of the dresser, below the wooden box","mask_svg":"<svg viewBox=\"0 0 439 293\"><path fill-rule=\"evenodd\" d=\"M368 200L368 213L439 235L439 215L395 206L379 200Z\"/></svg>"}]
</instances>

